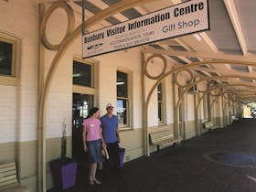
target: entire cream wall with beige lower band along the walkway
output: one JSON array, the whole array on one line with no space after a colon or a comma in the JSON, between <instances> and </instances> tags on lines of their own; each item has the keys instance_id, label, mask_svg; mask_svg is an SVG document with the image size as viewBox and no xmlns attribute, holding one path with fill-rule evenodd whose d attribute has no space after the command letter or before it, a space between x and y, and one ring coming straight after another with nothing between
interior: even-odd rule
<instances>
[{"instance_id":1,"label":"entire cream wall with beige lower band along the walkway","mask_svg":"<svg viewBox=\"0 0 256 192\"><path fill-rule=\"evenodd\" d=\"M80 17L76 14L76 26ZM66 32L66 13L59 9L50 16L47 37L52 44L59 43ZM38 5L37 1L0 1L0 35L1 33L18 37L21 40L20 59L18 61L18 82L16 86L0 85L0 162L16 161L18 176L22 184L37 191L37 78L38 78ZM81 55L81 42L78 37L59 62L54 75L47 100L46 136L47 161L60 155L60 137L62 123L65 119L68 136L68 156L71 156L71 120L72 120L72 64L74 57ZM48 71L54 57L52 51L45 52L45 72ZM116 104L116 71L121 69L131 75L131 123L130 129L121 132L121 145L126 149L124 161L144 155L144 130L142 124L142 82L141 53L139 48L131 48L119 52L102 55L91 59L99 64L97 101L101 114L105 113L108 102ZM169 67L173 64L168 60ZM151 75L161 72L163 63L154 59L148 65ZM45 73L46 74L46 73ZM187 77L183 77L187 80ZM155 80L145 80L146 95ZM169 129L174 132L173 79L167 77L163 81L165 98L165 123L158 124L157 91L153 92L148 107L149 132ZM176 96L177 96L177 87ZM176 97L177 100L177 97ZM187 138L195 135L194 95L185 98L186 134ZM201 109L202 110L202 109ZM115 111L114 111L115 113ZM151 146L152 151L155 146ZM47 187L52 187L49 174Z\"/></svg>"}]
</instances>

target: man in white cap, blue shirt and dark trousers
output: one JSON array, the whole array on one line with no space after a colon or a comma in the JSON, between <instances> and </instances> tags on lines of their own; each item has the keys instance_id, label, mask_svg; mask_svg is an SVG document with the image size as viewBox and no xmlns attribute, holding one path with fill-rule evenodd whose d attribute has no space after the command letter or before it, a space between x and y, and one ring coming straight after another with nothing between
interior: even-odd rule
<instances>
[{"instance_id":1,"label":"man in white cap, blue shirt and dark trousers","mask_svg":"<svg viewBox=\"0 0 256 192\"><path fill-rule=\"evenodd\" d=\"M117 116L112 114L112 103L106 105L107 113L101 117L102 135L109 152L109 161L105 163L107 168L111 168L116 174L121 174L119 159L119 129Z\"/></svg>"}]
</instances>

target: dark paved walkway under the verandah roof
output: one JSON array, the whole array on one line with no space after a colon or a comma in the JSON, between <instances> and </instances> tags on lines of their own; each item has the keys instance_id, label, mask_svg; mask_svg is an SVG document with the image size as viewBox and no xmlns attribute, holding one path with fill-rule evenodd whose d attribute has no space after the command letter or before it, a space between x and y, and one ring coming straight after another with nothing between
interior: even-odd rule
<instances>
[{"instance_id":1,"label":"dark paved walkway under the verandah roof","mask_svg":"<svg viewBox=\"0 0 256 192\"><path fill-rule=\"evenodd\" d=\"M101 186L89 186L79 169L75 187L67 192L255 192L256 166L233 167L208 161L214 151L256 154L256 120L243 119L219 131L184 141L176 151L166 148L124 165L124 178L99 172ZM57 190L49 190L57 192Z\"/></svg>"}]
</instances>

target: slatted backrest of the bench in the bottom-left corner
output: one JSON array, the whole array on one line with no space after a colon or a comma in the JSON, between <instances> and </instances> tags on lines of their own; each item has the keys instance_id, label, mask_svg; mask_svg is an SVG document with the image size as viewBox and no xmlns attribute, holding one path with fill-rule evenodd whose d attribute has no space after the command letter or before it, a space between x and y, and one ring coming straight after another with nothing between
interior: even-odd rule
<instances>
[{"instance_id":1,"label":"slatted backrest of the bench in the bottom-left corner","mask_svg":"<svg viewBox=\"0 0 256 192\"><path fill-rule=\"evenodd\" d=\"M17 184L16 163L0 164L0 189Z\"/></svg>"}]
</instances>

